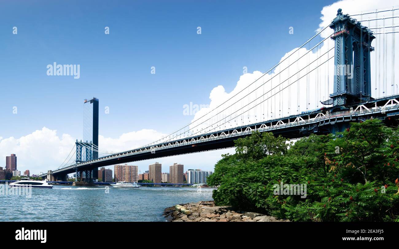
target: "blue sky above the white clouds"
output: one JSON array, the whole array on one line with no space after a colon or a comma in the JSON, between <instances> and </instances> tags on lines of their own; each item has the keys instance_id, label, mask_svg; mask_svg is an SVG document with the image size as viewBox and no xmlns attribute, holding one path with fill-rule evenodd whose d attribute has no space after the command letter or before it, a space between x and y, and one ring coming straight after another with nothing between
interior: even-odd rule
<instances>
[{"instance_id":1,"label":"blue sky above the white clouds","mask_svg":"<svg viewBox=\"0 0 399 249\"><path fill-rule=\"evenodd\" d=\"M244 66L269 69L314 34L320 11L332 3L1 1L0 137L47 127L79 139L83 99L93 96L105 137L141 129L170 133L193 118L183 116L184 104L209 104L218 85L230 92ZM80 78L47 76L53 62L79 64Z\"/></svg>"}]
</instances>

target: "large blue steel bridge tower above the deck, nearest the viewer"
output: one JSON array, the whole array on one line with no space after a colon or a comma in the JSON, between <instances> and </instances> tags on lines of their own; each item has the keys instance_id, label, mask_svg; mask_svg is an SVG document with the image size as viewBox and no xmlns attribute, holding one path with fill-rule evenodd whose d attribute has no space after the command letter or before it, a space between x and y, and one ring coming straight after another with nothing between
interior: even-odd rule
<instances>
[{"instance_id":1,"label":"large blue steel bridge tower above the deck, nearest the viewer","mask_svg":"<svg viewBox=\"0 0 399 249\"><path fill-rule=\"evenodd\" d=\"M333 106L345 106L371 98L370 52L375 39L367 27L338 9L330 24L335 41Z\"/></svg>"}]
</instances>

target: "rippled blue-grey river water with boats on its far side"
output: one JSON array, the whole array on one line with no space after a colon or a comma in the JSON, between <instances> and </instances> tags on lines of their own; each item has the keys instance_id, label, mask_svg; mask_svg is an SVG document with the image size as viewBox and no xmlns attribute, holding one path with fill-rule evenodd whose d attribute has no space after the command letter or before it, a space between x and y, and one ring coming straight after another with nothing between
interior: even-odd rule
<instances>
[{"instance_id":1,"label":"rippled blue-grey river water with boats on its far side","mask_svg":"<svg viewBox=\"0 0 399 249\"><path fill-rule=\"evenodd\" d=\"M4 190L4 184L0 185ZM33 188L30 198L2 191L0 221L165 221L165 208L213 200L212 190L54 186Z\"/></svg>"}]
</instances>

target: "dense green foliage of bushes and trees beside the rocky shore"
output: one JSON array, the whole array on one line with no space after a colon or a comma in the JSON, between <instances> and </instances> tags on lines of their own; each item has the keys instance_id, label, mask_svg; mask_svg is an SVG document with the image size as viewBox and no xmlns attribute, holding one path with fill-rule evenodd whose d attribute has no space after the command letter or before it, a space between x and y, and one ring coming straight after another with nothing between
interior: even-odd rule
<instances>
[{"instance_id":1,"label":"dense green foliage of bushes and trees beside the rocky shore","mask_svg":"<svg viewBox=\"0 0 399 249\"><path fill-rule=\"evenodd\" d=\"M398 220L398 134L379 120L352 123L336 135L310 135L293 145L254 132L236 141L234 155L222 156L207 183L219 186L213 191L219 205L293 221ZM276 195L280 182L306 184L306 198Z\"/></svg>"}]
</instances>

